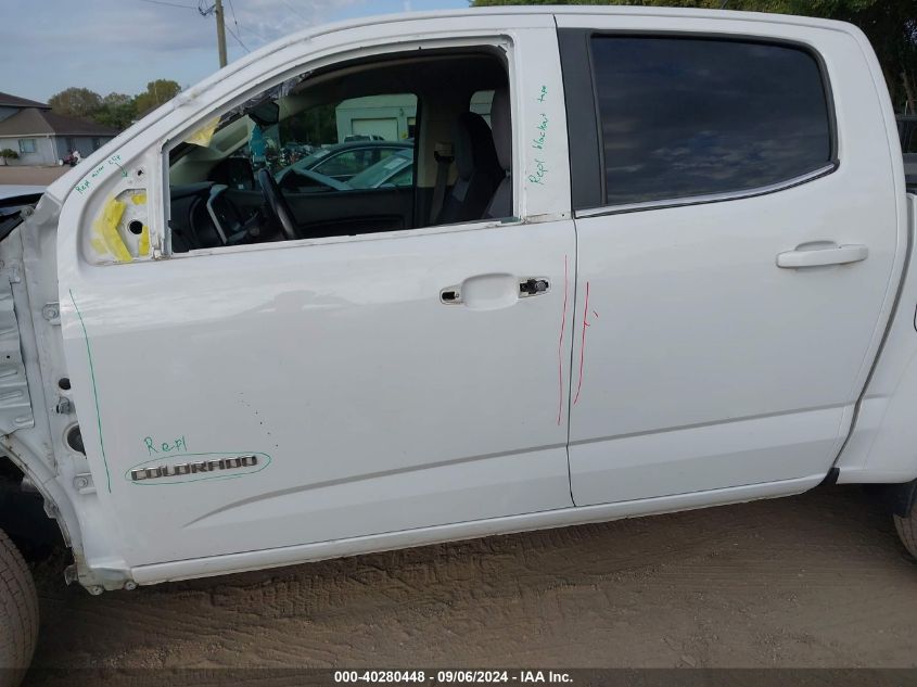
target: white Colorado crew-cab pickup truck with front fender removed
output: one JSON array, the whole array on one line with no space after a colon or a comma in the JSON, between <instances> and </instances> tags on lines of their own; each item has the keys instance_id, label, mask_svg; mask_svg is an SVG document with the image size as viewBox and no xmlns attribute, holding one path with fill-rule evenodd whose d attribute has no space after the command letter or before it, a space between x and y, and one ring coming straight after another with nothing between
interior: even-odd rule
<instances>
[{"instance_id":1,"label":"white Colorado crew-cab pickup truck with front fender removed","mask_svg":"<svg viewBox=\"0 0 917 687\"><path fill-rule=\"evenodd\" d=\"M917 554L915 215L846 24L307 30L0 225L2 474L92 594L823 482Z\"/></svg>"}]
</instances>

